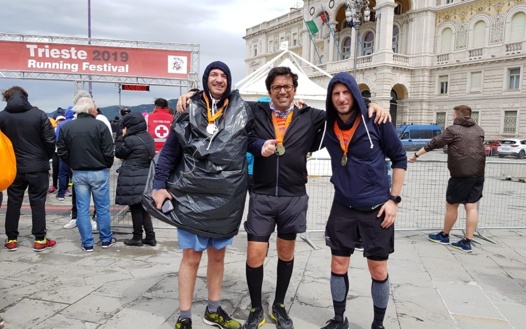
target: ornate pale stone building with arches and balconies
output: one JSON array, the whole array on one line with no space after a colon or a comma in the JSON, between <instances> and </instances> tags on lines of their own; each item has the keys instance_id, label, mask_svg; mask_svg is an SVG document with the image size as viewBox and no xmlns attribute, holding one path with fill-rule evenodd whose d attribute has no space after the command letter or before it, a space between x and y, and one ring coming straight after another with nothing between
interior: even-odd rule
<instances>
[{"instance_id":1,"label":"ornate pale stone building with arches and balconies","mask_svg":"<svg viewBox=\"0 0 526 329\"><path fill-rule=\"evenodd\" d=\"M453 106L468 104L487 137L526 136L525 1L370 0L371 19L359 29L362 94L390 106L397 124L448 126ZM283 41L330 74L352 73L356 31L345 8L343 0L306 0L247 28L247 74L276 56ZM335 38L324 25L311 42L304 19L323 10ZM304 70L327 86L326 76Z\"/></svg>"}]
</instances>

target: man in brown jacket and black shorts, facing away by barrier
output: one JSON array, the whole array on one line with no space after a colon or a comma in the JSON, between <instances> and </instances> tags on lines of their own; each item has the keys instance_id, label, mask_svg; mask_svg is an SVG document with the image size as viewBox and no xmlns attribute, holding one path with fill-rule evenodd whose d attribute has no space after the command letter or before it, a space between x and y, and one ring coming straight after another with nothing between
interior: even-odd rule
<instances>
[{"instance_id":1,"label":"man in brown jacket and black shorts, facing away by barrier","mask_svg":"<svg viewBox=\"0 0 526 329\"><path fill-rule=\"evenodd\" d=\"M466 209L466 236L459 242L451 243L453 248L470 253L471 238L477 229L479 213L477 202L484 188L484 130L471 118L471 108L459 105L453 108L453 125L442 134L433 137L429 143L409 157L411 163L417 157L432 149L448 145L448 169L451 175L446 192L446 218L444 229L430 234L432 242L449 244L449 233L457 222L459 204Z\"/></svg>"}]
</instances>

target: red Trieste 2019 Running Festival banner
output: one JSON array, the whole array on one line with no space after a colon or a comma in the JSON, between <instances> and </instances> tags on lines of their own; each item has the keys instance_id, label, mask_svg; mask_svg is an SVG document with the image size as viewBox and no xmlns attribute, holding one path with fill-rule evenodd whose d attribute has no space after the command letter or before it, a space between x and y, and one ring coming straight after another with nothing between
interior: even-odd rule
<instances>
[{"instance_id":1,"label":"red Trieste 2019 Running Festival banner","mask_svg":"<svg viewBox=\"0 0 526 329\"><path fill-rule=\"evenodd\" d=\"M0 41L0 70L187 79L190 52Z\"/></svg>"}]
</instances>

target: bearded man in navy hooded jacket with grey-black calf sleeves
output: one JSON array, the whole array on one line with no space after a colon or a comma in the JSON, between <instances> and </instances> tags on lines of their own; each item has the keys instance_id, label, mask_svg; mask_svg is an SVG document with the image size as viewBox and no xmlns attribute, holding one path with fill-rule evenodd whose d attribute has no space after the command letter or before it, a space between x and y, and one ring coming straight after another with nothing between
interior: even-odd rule
<instances>
[{"instance_id":1,"label":"bearded man in navy hooded jacket with grey-black calf sleeves","mask_svg":"<svg viewBox=\"0 0 526 329\"><path fill-rule=\"evenodd\" d=\"M393 125L369 118L358 84L349 73L335 75L327 88L327 129L323 144L331 157L335 188L325 242L331 248L330 287L335 317L322 329L347 329L350 256L361 237L371 273L372 329L383 327L389 301L387 260L394 252L395 223L407 156ZM385 169L392 163L392 188Z\"/></svg>"}]
</instances>

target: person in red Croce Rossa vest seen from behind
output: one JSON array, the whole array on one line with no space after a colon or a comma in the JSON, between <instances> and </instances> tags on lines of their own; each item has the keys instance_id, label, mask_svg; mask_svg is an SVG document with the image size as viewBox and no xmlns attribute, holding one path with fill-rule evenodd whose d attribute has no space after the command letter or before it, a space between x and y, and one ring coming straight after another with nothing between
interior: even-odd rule
<instances>
[{"instance_id":1,"label":"person in red Croce Rossa vest seen from behind","mask_svg":"<svg viewBox=\"0 0 526 329\"><path fill-rule=\"evenodd\" d=\"M168 111L168 101L164 98L155 100L154 112L145 117L148 133L154 137L155 152L159 152L163 147L168 134L170 133L171 122L174 121L174 115Z\"/></svg>"}]
</instances>

